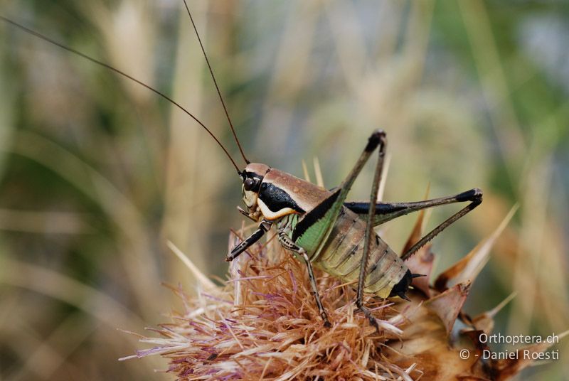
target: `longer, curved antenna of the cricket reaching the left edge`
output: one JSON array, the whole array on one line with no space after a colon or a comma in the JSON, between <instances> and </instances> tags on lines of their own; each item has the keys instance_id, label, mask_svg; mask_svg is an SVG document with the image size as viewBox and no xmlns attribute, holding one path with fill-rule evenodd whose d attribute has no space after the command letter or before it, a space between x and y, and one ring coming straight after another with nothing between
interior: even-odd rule
<instances>
[{"instance_id":1,"label":"longer, curved antenna of the cricket reaching the left edge","mask_svg":"<svg viewBox=\"0 0 569 381\"><path fill-rule=\"evenodd\" d=\"M73 48L70 48L66 45L63 45L62 43L58 43L57 41L52 40L51 38L48 38L46 36L43 36L43 34L38 33L36 31L33 31L30 28L27 28L26 26L23 26L19 23L16 23L15 21L11 21L9 18L6 18L4 16L0 15L0 19L2 21L5 21L6 23L9 23L13 26L16 26L17 28L20 28L21 30L25 31L26 33L31 34L32 36L36 36L38 38L41 38L43 41L47 41L48 43L51 43L53 45L59 46L60 48L63 48L65 50L68 50L68 52L73 53L75 55L79 55L80 57L85 58L86 60L90 60L92 63L96 63L97 65L101 65L104 68L107 68L109 70L114 71L115 73L122 75L123 77L127 77L129 80L132 80L134 82L137 82L139 85L146 87L148 90L151 90L152 92L156 93L157 95L163 97L165 100L168 100L169 102L171 102L171 104L174 104L176 107L178 107L179 109L181 109L183 112L185 112L186 114L188 114L193 120L195 120L196 122L198 122L198 124L203 127L203 129L205 129L208 134L210 134L210 136L213 138L213 140L216 141L216 143L221 147L221 149L223 149L223 152L225 152L225 155L227 155L227 157L229 158L229 160L231 161L231 163L233 164L233 166L235 167L235 169L237 170L237 173L241 173L241 171L239 170L239 167L237 166L237 164L235 163L235 161L233 160L233 158L231 157L231 155L229 154L229 152L227 151L227 149L225 149L225 147L223 146L223 144L221 144L221 142L218 140L218 138L216 138L216 136L210 131L210 129L208 129L208 127L205 126L205 124L203 124L198 118L194 117L193 114L191 112L189 112L187 109L185 109L184 107L181 106L181 104L179 104L178 102L176 102L175 100L171 99L171 97L169 97L168 95L165 95L163 92L160 92L159 90L154 89L154 87L151 87L149 85L147 85L146 83L137 80L136 78L132 77L131 75L128 75L127 73L124 73L123 71L117 69L117 68L113 68L111 65L104 63L100 60L96 60L95 58L92 58L88 55L86 55L85 53L81 53L78 50L75 50Z\"/></svg>"}]
</instances>

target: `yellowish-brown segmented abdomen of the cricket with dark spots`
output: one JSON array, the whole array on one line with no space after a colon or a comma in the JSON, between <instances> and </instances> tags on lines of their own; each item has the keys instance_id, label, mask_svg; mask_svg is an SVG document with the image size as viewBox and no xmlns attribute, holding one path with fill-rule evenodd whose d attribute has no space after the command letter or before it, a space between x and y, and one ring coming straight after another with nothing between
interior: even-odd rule
<instances>
[{"instance_id":1,"label":"yellowish-brown segmented abdomen of the cricket with dark spots","mask_svg":"<svg viewBox=\"0 0 569 381\"><path fill-rule=\"evenodd\" d=\"M343 207L321 254L311 262L342 281L357 283L365 232L366 221ZM378 235L374 233L374 236L364 291L386 298L403 278L407 267Z\"/></svg>"}]
</instances>

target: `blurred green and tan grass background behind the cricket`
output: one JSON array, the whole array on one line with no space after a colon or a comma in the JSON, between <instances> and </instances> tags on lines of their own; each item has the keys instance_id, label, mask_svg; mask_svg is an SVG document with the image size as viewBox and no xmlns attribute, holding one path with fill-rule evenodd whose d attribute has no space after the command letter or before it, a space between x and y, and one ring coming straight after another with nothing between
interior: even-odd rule
<instances>
[{"instance_id":1,"label":"blurred green and tan grass background behind the cricket","mask_svg":"<svg viewBox=\"0 0 569 381\"><path fill-rule=\"evenodd\" d=\"M377 127L385 200L484 190L435 239L437 269L515 203L467 304L516 298L503 334L569 328L569 6L564 1L190 1L252 161L327 187ZM238 160L181 1L4 1L0 13L171 95ZM240 182L198 125L104 68L0 24L0 378L154 380L158 358L117 358L193 289L171 240L223 277ZM312 167L312 165L311 165ZM371 167L371 166L370 166ZM314 177L313 177L314 179ZM353 199L368 197L371 168ZM456 207L454 207L456 209ZM430 225L452 213L433 210ZM395 250L415 217L383 236ZM496 346L494 346L497 349ZM569 374L561 359L520 380Z\"/></svg>"}]
</instances>

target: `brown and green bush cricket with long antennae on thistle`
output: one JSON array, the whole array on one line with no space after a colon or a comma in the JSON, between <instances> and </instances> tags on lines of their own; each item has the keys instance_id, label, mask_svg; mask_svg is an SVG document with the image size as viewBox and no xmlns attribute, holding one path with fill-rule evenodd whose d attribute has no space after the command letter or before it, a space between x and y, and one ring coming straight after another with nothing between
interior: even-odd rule
<instances>
[{"instance_id":1,"label":"brown and green bush cricket with long antennae on thistle","mask_svg":"<svg viewBox=\"0 0 569 381\"><path fill-rule=\"evenodd\" d=\"M209 63L206 50L186 0L184 0L184 6L203 51L203 56L208 65L225 116L228 119L233 137L238 145L243 161L245 161L245 168L243 169L240 169L229 154L228 149L221 144L205 124L168 95L137 80L122 70L58 43L4 16L0 16L0 19L26 31L26 33L112 70L133 82L137 82L188 114L189 117L194 119L211 135L234 166L242 183L243 202L246 207L238 207L238 210L258 223L255 232L234 247L226 260L232 261L238 257L248 247L260 240L272 228L272 225L275 225L282 247L292 252L297 259L307 265L312 292L324 325L331 326L324 306L322 306L320 301L313 266L319 267L324 272L342 281L357 281L356 306L365 314L370 323L379 329L371 311L363 303L363 293L374 294L384 299L389 297L407 299L406 291L408 291L413 278L420 277L420 274L412 274L405 265L405 260L442 232L442 230L445 230L446 227L482 203L482 191L474 188L457 195L431 200L409 203L378 203L376 200L378 198L378 188L387 145L385 132L381 130L376 130L371 134L355 165L344 181L329 191L308 181L296 178L289 173L267 166L264 163L251 163L246 158L233 128L228 109L225 107L216 77L213 75L213 69ZM369 201L346 201L353 181L361 173L361 169L375 151L378 151L378 159L376 161ZM401 215L438 205L462 202L469 204L440 223L440 225L437 225L437 227L428 232L413 247L410 247L400 256L395 254L393 249L373 230L373 227Z\"/></svg>"}]
</instances>

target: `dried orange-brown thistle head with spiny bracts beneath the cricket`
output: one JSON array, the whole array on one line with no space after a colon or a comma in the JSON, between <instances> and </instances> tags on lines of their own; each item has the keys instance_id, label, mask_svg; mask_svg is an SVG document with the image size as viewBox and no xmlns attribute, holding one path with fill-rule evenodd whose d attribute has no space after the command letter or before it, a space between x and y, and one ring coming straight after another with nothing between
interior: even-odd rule
<instances>
[{"instance_id":1,"label":"dried orange-brown thistle head with spiny bracts beneath the cricket","mask_svg":"<svg viewBox=\"0 0 569 381\"><path fill-rule=\"evenodd\" d=\"M189 264L200 280L197 296L172 288L184 309L152 330L159 337L141 339L152 348L128 358L159 354L180 380L506 380L527 362L484 363L479 356L485 349L479 333L491 331L499 308L476 318L461 310L470 282L512 213L494 235L442 272L434 286L427 280L434 258L430 247L415 254L408 267L427 277L414 280L411 302L367 300L380 331L354 306L355 285L317 271L332 322L325 328L306 267L276 240L255 245L233 261L225 286L216 286ZM408 245L421 231L422 214ZM236 240L232 233L230 246ZM461 350L468 351L468 359L461 358Z\"/></svg>"}]
</instances>

